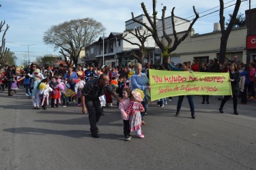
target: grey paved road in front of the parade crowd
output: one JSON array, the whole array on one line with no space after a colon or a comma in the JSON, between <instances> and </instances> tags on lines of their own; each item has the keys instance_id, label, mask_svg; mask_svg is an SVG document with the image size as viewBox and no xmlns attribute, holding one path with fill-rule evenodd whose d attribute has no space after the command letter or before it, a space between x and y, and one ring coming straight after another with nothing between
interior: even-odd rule
<instances>
[{"instance_id":1,"label":"grey paved road in front of the parade crowd","mask_svg":"<svg viewBox=\"0 0 256 170\"><path fill-rule=\"evenodd\" d=\"M95 139L81 107L35 110L24 94L0 92L0 169L256 169L256 101L235 116L231 100L219 114L216 97L210 105L195 97L196 120L186 98L178 118L177 97L164 108L153 102L145 138L124 141L115 107L105 109Z\"/></svg>"}]
</instances>

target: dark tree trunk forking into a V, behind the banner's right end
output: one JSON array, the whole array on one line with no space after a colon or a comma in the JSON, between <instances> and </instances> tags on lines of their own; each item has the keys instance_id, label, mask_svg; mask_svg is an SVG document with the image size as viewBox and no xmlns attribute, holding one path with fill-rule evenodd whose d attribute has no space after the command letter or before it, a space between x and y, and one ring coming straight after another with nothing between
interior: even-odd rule
<instances>
[{"instance_id":1,"label":"dark tree trunk forking into a V, behind the banner's right end","mask_svg":"<svg viewBox=\"0 0 256 170\"><path fill-rule=\"evenodd\" d=\"M225 54L227 50L227 40L229 39L229 34L233 28L233 25L236 21L236 16L238 15L238 10L241 5L241 0L236 0L236 5L233 10L233 14L231 15L231 18L229 20L229 23L227 24L227 28L225 29L225 16L223 16L224 13L224 3L223 0L220 0L220 24L221 24L221 46L220 46L220 63L224 63L225 61Z\"/></svg>"}]
</instances>

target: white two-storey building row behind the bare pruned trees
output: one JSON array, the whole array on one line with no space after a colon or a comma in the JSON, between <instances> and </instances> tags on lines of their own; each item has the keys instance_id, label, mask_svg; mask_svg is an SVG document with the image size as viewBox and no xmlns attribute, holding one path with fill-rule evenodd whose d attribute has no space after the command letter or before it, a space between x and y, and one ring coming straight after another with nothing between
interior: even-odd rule
<instances>
[{"instance_id":1,"label":"white two-storey building row behind the bare pruned trees","mask_svg":"<svg viewBox=\"0 0 256 170\"><path fill-rule=\"evenodd\" d=\"M148 22L145 15L140 15L135 17L137 20L141 22L145 22L149 27L150 23ZM175 16L175 22L182 23L177 24L175 27L177 32L185 31L188 29L190 22L189 20L185 20ZM166 31L167 34L173 33L173 28L171 24L171 17L165 18L166 23ZM162 20L157 19L158 28L162 27ZM129 34L129 31L134 31L134 29L139 29L141 33L145 31L146 34L150 34L141 24L134 22L133 20L126 21L126 31L124 33L110 33L108 37L100 37L98 41L94 44L90 44L89 46L85 47L85 64L87 65L112 65L115 67L116 65L134 65L137 63L137 60L133 58L131 52L139 51L139 46L132 45L127 41L124 41L122 37L126 35L126 39L132 41L134 43L138 43L139 39L134 37L132 34ZM159 36L162 36L162 29L159 29ZM103 43L104 40L104 43ZM104 44L104 46L103 46ZM154 64L156 61L160 61L160 56L155 56L155 48L156 44L153 37L148 37L147 41L145 42L146 48L149 50L149 54L145 58L143 63L150 63ZM104 52L103 52L104 50ZM104 62L103 62L104 61Z\"/></svg>"}]
</instances>

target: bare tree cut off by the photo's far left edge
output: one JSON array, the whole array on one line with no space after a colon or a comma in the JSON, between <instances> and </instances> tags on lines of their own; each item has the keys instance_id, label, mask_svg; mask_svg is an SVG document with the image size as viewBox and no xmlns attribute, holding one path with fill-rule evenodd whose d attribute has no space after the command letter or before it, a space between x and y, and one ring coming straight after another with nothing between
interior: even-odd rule
<instances>
[{"instance_id":1,"label":"bare tree cut off by the photo's far left edge","mask_svg":"<svg viewBox=\"0 0 256 170\"><path fill-rule=\"evenodd\" d=\"M5 30L3 30L3 27L5 25L5 21L1 21L0 23L0 33L3 31L2 35L2 41L1 41L1 46L0 46L0 64L5 65L7 62L8 58L8 53L10 52L10 48L5 47L5 34L9 29L9 25L6 24Z\"/></svg>"}]
</instances>

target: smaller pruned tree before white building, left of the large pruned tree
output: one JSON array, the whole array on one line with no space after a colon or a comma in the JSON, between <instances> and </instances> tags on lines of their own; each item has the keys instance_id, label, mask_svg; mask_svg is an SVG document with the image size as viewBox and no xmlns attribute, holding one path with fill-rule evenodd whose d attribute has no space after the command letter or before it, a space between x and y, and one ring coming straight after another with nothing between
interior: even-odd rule
<instances>
[{"instance_id":1,"label":"smaller pruned tree before white building, left of the large pruned tree","mask_svg":"<svg viewBox=\"0 0 256 170\"><path fill-rule=\"evenodd\" d=\"M122 39L124 39L124 41L128 41L128 43L135 45L135 46L139 46L139 54L137 54L136 52L132 52L132 56L134 56L134 58L137 58L139 60L139 63L141 63L143 65L143 58L147 55L147 48L145 47L145 41L147 41L147 37L151 37L152 35L147 35L146 31L143 31L143 34L141 34L141 31L139 29L135 29L135 31L131 31L129 30L128 33L134 35L135 37L137 37L137 39L139 39L139 43L135 43L132 42L128 39L126 39L125 37L128 35L124 35L124 37L122 37Z\"/></svg>"}]
</instances>

